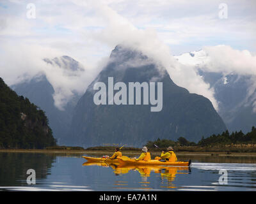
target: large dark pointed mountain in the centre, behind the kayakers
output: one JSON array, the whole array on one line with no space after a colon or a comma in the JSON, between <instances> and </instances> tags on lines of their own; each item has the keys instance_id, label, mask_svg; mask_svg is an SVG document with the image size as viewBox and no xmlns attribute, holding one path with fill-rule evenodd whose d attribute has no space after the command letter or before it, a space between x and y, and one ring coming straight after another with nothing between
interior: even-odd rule
<instances>
[{"instance_id":1,"label":"large dark pointed mountain in the centre, behind the kayakers","mask_svg":"<svg viewBox=\"0 0 256 204\"><path fill-rule=\"evenodd\" d=\"M161 111L150 111L152 105L143 105L143 101L141 105L112 105L111 101L110 105L95 105L93 97L97 91L93 90L93 86L97 82L104 82L108 91L109 77L113 77L113 84L124 82L126 87L129 87L129 82L146 82L148 85L150 82L163 83ZM113 94L118 91L120 89L114 90ZM141 99L143 91L141 89ZM106 100L109 102L108 92L106 94ZM134 104L135 98L134 94ZM129 99L127 104L128 101ZM108 65L79 99L69 138L72 145L83 147L104 143L140 146L148 140L176 140L180 136L197 142L202 136L221 133L225 129L223 120L209 99L190 94L186 89L174 84L164 68L159 69L154 61L141 52L118 45L111 52Z\"/></svg>"}]
</instances>

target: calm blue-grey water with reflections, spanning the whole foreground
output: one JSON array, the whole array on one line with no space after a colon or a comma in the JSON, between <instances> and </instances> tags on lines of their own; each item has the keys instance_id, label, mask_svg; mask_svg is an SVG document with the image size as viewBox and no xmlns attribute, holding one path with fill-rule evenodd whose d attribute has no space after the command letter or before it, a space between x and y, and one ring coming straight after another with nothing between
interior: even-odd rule
<instances>
[{"instance_id":1,"label":"calm blue-grey water with reflections, spanning the whole foreground","mask_svg":"<svg viewBox=\"0 0 256 204\"><path fill-rule=\"evenodd\" d=\"M118 168L81 156L0 152L0 191L256 191L255 157L193 156L191 168ZM27 184L28 169L36 172L35 185ZM227 184L219 183L220 170Z\"/></svg>"}]
</instances>

